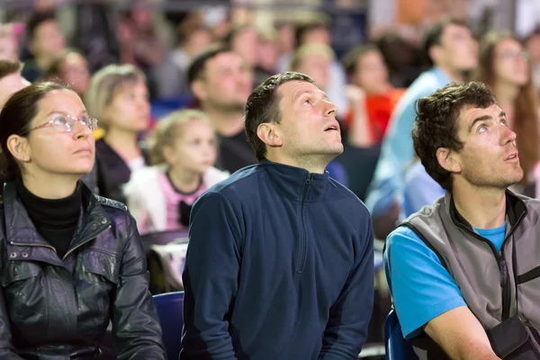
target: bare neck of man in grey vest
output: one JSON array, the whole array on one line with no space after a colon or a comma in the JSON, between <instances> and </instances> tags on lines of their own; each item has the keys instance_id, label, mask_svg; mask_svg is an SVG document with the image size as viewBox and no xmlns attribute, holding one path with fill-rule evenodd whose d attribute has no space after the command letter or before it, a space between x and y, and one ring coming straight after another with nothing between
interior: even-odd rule
<instances>
[{"instance_id":1,"label":"bare neck of man in grey vest","mask_svg":"<svg viewBox=\"0 0 540 360\"><path fill-rule=\"evenodd\" d=\"M456 188L457 186L454 186ZM453 193L455 209L473 228L494 229L506 219L506 193L502 189L479 189L469 184Z\"/></svg>"}]
</instances>

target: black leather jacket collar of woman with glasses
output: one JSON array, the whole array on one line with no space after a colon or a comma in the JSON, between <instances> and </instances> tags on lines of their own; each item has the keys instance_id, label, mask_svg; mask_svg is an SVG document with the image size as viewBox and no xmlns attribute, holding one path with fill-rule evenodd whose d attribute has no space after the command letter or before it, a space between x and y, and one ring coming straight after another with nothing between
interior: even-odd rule
<instances>
[{"instance_id":1,"label":"black leather jacket collar of woman with glasses","mask_svg":"<svg viewBox=\"0 0 540 360\"><path fill-rule=\"evenodd\" d=\"M92 191L83 182L79 182L78 185L83 187L82 211L67 252L78 247L89 238L94 238L111 225L111 220L97 202L97 198ZM17 196L16 184L13 181L4 184L4 219L6 240L12 246L51 247L49 242L42 238L34 227L28 212L24 209L23 202ZM47 252L40 251L40 258L35 259L51 264L61 264L58 261L58 256L52 254L52 248L50 250Z\"/></svg>"}]
</instances>

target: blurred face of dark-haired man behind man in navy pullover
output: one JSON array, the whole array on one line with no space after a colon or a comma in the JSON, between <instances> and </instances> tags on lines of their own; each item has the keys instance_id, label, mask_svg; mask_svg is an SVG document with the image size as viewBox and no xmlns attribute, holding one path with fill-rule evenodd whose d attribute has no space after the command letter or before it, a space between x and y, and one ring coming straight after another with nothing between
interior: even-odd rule
<instances>
[{"instance_id":1,"label":"blurred face of dark-haired man behind man in navy pullover","mask_svg":"<svg viewBox=\"0 0 540 360\"><path fill-rule=\"evenodd\" d=\"M236 52L222 52L206 62L204 75L193 83L193 94L203 107L243 111L251 94L253 75Z\"/></svg>"}]
</instances>

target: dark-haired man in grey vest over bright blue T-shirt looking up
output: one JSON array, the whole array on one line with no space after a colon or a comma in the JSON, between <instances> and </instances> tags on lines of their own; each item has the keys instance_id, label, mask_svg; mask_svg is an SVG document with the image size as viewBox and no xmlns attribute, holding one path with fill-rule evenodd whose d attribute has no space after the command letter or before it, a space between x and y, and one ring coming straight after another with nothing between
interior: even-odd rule
<instances>
[{"instance_id":1,"label":"dark-haired man in grey vest over bright blue T-shirt looking up","mask_svg":"<svg viewBox=\"0 0 540 360\"><path fill-rule=\"evenodd\" d=\"M403 335L421 359L538 358L540 202L507 189L524 173L505 113L486 85L446 85L419 99L412 139L446 195L387 239Z\"/></svg>"}]
</instances>

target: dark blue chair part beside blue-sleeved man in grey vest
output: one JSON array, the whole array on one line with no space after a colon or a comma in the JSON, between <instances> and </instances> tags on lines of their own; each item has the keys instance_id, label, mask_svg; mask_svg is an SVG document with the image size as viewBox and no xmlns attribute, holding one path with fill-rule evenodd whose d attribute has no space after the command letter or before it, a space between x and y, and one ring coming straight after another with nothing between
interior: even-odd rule
<instances>
[{"instance_id":1,"label":"dark blue chair part beside blue-sleeved man in grey vest","mask_svg":"<svg viewBox=\"0 0 540 360\"><path fill-rule=\"evenodd\" d=\"M386 360L418 360L418 356L403 338L400 320L395 311L390 311L384 322L384 345L386 347Z\"/></svg>"}]
</instances>

